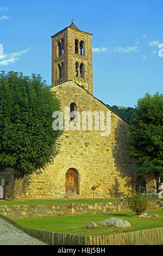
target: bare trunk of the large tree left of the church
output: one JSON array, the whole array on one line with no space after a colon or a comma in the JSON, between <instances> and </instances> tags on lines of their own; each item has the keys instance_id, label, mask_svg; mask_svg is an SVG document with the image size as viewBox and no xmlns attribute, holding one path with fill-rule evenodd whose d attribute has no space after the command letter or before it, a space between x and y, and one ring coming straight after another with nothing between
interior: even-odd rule
<instances>
[{"instance_id":1,"label":"bare trunk of the large tree left of the church","mask_svg":"<svg viewBox=\"0 0 163 256\"><path fill-rule=\"evenodd\" d=\"M22 197L24 175L14 174L14 186L12 190L11 200L20 200Z\"/></svg>"}]
</instances>

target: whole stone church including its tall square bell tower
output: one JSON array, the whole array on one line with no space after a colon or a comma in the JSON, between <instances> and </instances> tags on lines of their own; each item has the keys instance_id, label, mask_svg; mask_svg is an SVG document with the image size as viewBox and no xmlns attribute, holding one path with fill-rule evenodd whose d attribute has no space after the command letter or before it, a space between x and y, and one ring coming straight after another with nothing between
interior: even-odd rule
<instances>
[{"instance_id":1,"label":"whole stone church including its tall square bell tower","mask_svg":"<svg viewBox=\"0 0 163 256\"><path fill-rule=\"evenodd\" d=\"M111 198L135 190L140 175L136 176L135 161L126 149L129 123L93 96L92 34L72 22L51 38L51 90L61 102L62 113L65 107L70 107L70 112L109 112L111 133L102 136L95 129L65 129L54 163L41 175L24 178L22 198L93 198L95 187L97 198ZM10 198L12 170L0 178L4 179L5 198ZM155 184L154 174L150 182Z\"/></svg>"}]
</instances>

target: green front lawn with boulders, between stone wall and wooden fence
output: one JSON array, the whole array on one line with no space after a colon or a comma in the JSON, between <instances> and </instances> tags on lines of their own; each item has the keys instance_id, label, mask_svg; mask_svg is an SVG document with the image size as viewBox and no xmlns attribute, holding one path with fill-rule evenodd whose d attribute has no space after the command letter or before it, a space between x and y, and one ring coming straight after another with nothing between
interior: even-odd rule
<instances>
[{"instance_id":1,"label":"green front lawn with boulders, between stone wall and wooden fence","mask_svg":"<svg viewBox=\"0 0 163 256\"><path fill-rule=\"evenodd\" d=\"M137 216L134 216L134 212L119 212L116 214L27 218L15 221L23 225L23 227L27 228L53 231L55 233L67 233L73 235L107 235L123 231L125 232L163 227L163 211L149 211L148 213L158 214L159 218L139 218ZM125 230L105 226L98 227L94 230L87 230L85 228L86 225L91 221L95 222L98 225L99 222L110 217L121 218L122 220L130 222L131 228Z\"/></svg>"}]
</instances>

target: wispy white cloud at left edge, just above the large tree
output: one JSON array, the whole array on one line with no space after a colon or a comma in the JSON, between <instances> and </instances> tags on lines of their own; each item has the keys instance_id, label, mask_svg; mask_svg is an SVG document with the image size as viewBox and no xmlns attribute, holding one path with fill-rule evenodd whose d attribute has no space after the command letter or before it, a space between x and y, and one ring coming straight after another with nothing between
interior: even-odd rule
<instances>
[{"instance_id":1,"label":"wispy white cloud at left edge, just above the large tree","mask_svg":"<svg viewBox=\"0 0 163 256\"><path fill-rule=\"evenodd\" d=\"M25 49L23 51L19 51L19 52L12 52L9 54L3 54L2 56L0 56L0 65L8 65L10 63L15 63L17 60L19 60L18 56L21 56L22 54L25 54L29 52L29 49Z\"/></svg>"}]
</instances>

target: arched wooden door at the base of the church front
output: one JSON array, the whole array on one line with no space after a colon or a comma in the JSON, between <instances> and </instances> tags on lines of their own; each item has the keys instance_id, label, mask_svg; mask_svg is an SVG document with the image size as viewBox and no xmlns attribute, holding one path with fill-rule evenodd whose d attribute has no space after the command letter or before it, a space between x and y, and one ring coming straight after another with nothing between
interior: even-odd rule
<instances>
[{"instance_id":1,"label":"arched wooden door at the base of the church front","mask_svg":"<svg viewBox=\"0 0 163 256\"><path fill-rule=\"evenodd\" d=\"M79 194L79 173L76 169L67 170L66 194Z\"/></svg>"}]
</instances>

